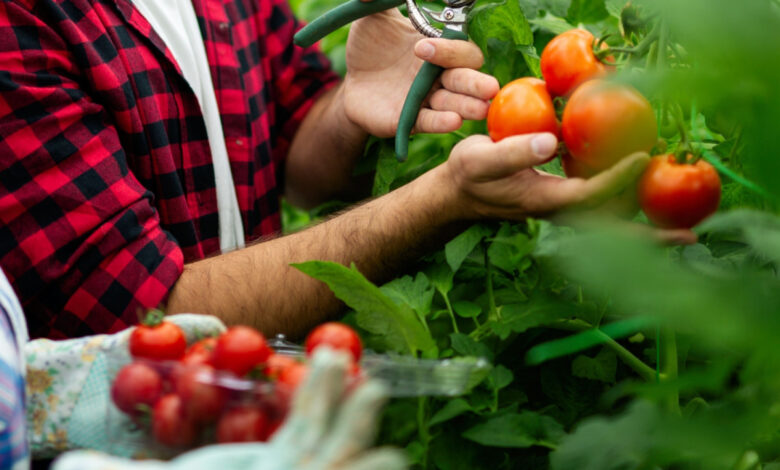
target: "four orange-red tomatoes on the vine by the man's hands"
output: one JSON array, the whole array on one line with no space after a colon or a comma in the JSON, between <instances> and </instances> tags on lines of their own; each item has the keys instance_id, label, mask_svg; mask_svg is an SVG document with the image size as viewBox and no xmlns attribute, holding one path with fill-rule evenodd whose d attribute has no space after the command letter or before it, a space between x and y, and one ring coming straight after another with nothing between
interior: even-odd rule
<instances>
[{"instance_id":1,"label":"four orange-red tomatoes on the vine by the man's hands","mask_svg":"<svg viewBox=\"0 0 780 470\"><path fill-rule=\"evenodd\" d=\"M658 141L650 103L634 88L603 79L614 67L599 57L608 50L594 53L595 44L583 29L553 38L541 55L544 81L514 80L491 102L490 137L498 142L511 135L555 133L564 143L563 171L577 178L590 178L632 153L650 152ZM553 99L565 103L560 124ZM664 228L693 227L715 212L720 200L720 179L712 166L695 158L677 160L655 157L638 188L640 206Z\"/></svg>"}]
</instances>

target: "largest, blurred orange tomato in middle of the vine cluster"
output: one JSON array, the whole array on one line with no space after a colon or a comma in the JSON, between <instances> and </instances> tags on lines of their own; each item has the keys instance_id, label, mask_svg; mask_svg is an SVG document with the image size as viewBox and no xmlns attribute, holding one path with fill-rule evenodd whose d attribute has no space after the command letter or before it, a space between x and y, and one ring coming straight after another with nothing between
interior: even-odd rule
<instances>
[{"instance_id":1,"label":"largest, blurred orange tomato in middle of the vine cluster","mask_svg":"<svg viewBox=\"0 0 780 470\"><path fill-rule=\"evenodd\" d=\"M650 103L626 85L591 80L574 92L563 110L563 140L571 156L601 171L656 144Z\"/></svg>"}]
</instances>

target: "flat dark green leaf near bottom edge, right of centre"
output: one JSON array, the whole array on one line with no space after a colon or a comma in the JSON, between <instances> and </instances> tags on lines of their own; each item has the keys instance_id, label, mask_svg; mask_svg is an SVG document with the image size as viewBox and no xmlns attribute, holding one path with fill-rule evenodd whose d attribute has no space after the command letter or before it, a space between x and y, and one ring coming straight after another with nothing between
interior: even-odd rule
<instances>
[{"instance_id":1,"label":"flat dark green leaf near bottom edge, right of centre","mask_svg":"<svg viewBox=\"0 0 780 470\"><path fill-rule=\"evenodd\" d=\"M524 411L491 418L465 431L463 437L487 447L554 448L564 434L563 426L553 418Z\"/></svg>"}]
</instances>

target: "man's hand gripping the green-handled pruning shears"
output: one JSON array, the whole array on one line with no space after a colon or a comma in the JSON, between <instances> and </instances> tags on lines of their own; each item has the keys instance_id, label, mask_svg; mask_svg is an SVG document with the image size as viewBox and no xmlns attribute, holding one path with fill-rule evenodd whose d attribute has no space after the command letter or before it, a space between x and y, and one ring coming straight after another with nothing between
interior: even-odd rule
<instances>
[{"instance_id":1,"label":"man's hand gripping the green-handled pruning shears","mask_svg":"<svg viewBox=\"0 0 780 470\"><path fill-rule=\"evenodd\" d=\"M417 132L452 132L464 119L484 119L488 100L499 89L495 78L477 71L484 60L479 47L467 41L423 39L395 8L355 22L346 54L342 90L346 116L379 137L395 135L401 107L423 60L447 70L423 103Z\"/></svg>"}]
</instances>

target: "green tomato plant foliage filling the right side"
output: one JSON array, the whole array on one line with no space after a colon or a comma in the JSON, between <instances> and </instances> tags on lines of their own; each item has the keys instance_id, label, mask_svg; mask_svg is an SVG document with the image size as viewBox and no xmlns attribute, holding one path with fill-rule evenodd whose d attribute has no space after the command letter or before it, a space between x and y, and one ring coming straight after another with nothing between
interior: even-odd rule
<instances>
[{"instance_id":1,"label":"green tomato plant foliage filling the right side","mask_svg":"<svg viewBox=\"0 0 780 470\"><path fill-rule=\"evenodd\" d=\"M293 0L311 20L338 1ZM658 25L661 25L660 27ZM377 351L493 368L453 398L394 400L381 443L418 468L780 468L780 6L775 0L480 0L470 35L502 84L539 75L539 54L574 26L651 48L617 80L658 111L670 146L684 121L723 179L700 243L660 247L593 216L476 224L381 287L354 269L300 266L350 307ZM322 42L344 70L347 28ZM416 136L405 163L374 140L383 194L444 161L468 122ZM560 172L553 162L545 168ZM338 206L285 207L296 230ZM642 221L638 216L637 221ZM573 228L577 227L577 228Z\"/></svg>"}]
</instances>

